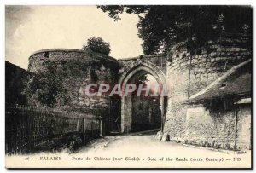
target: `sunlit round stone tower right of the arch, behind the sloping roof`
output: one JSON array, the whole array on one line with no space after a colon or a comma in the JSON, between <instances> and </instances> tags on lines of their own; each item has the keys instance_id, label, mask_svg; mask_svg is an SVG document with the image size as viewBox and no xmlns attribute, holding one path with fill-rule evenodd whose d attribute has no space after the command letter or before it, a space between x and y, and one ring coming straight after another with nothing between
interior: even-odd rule
<instances>
[{"instance_id":1,"label":"sunlit round stone tower right of the arch, behind the sloping roof","mask_svg":"<svg viewBox=\"0 0 256 173\"><path fill-rule=\"evenodd\" d=\"M187 105L184 101L211 84L232 66L251 58L251 49L245 49L249 47L244 46L245 44L247 40L222 38L215 43L209 41L207 46L196 49L194 53L188 51L186 42L178 43L171 49L166 75L170 96L164 131L172 140L184 139L186 129L193 122L186 119Z\"/></svg>"}]
</instances>

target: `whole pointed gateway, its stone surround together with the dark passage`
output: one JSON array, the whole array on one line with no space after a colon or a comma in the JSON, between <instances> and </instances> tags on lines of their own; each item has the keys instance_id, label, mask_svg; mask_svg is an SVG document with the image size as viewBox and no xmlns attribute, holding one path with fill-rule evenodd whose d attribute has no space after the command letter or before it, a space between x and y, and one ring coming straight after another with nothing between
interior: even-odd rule
<instances>
[{"instance_id":1,"label":"whole pointed gateway, its stone surround together with the dark passage","mask_svg":"<svg viewBox=\"0 0 256 173\"><path fill-rule=\"evenodd\" d=\"M166 84L166 81L162 73L157 70L158 69L152 69L149 66L135 66L130 72L127 72L125 78L121 80L122 82L120 84L122 85L122 89L126 89L129 84L137 84L142 78L148 77L148 84L157 81L156 91L159 92L160 90L158 89L162 88ZM137 92L135 91L135 93ZM143 103L141 102L142 98L137 97L137 101L134 99L133 93L121 98L121 132L130 133L159 127L163 130L163 118L166 113L165 96L156 95L146 97L143 98ZM136 105L136 103L138 104ZM152 113L154 113L154 115Z\"/></svg>"}]
</instances>

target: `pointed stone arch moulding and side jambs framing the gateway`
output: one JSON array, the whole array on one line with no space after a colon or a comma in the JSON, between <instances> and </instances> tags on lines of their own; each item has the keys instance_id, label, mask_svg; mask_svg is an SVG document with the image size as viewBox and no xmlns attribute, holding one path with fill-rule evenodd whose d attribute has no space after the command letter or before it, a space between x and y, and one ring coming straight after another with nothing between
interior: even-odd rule
<instances>
[{"instance_id":1,"label":"pointed stone arch moulding and side jambs framing the gateway","mask_svg":"<svg viewBox=\"0 0 256 173\"><path fill-rule=\"evenodd\" d=\"M164 73L160 70L158 66L154 64L143 61L137 66L133 66L131 70L124 72L119 80L122 90L125 90L126 84L135 83L136 80L143 75L152 75L160 88L166 87L166 77ZM132 130L132 95L127 95L121 97L121 117L120 117L120 131L121 133L130 133ZM160 106L160 118L161 118L161 130L163 130L166 114L166 96L160 95L159 98Z\"/></svg>"}]
</instances>

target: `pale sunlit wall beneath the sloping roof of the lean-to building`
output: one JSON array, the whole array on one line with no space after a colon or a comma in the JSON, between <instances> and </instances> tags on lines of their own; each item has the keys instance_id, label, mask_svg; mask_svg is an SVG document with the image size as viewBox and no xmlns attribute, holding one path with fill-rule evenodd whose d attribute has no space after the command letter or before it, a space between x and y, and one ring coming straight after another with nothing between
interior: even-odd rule
<instances>
[{"instance_id":1,"label":"pale sunlit wall beneath the sloping roof of the lean-to building","mask_svg":"<svg viewBox=\"0 0 256 173\"><path fill-rule=\"evenodd\" d=\"M250 149L251 105L212 110L203 105L187 109L184 143L226 149Z\"/></svg>"}]
</instances>

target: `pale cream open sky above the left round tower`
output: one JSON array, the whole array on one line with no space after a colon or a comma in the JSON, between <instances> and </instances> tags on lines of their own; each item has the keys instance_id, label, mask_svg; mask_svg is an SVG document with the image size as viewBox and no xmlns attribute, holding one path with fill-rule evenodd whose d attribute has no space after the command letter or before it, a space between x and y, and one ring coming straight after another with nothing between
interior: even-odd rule
<instances>
[{"instance_id":1,"label":"pale cream open sky above the left round tower","mask_svg":"<svg viewBox=\"0 0 256 173\"><path fill-rule=\"evenodd\" d=\"M39 49L81 49L89 37L110 43L116 59L143 55L137 15L114 21L96 6L6 6L5 60L27 69Z\"/></svg>"}]
</instances>

